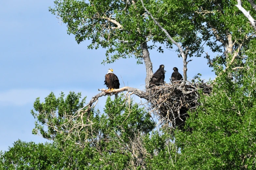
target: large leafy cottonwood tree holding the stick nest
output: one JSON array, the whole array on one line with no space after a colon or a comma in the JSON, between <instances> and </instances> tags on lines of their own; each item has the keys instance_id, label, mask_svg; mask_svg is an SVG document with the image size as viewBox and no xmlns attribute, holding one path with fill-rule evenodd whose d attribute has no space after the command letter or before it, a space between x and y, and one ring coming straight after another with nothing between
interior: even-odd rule
<instances>
[{"instance_id":1,"label":"large leafy cottonwood tree holding the stick nest","mask_svg":"<svg viewBox=\"0 0 256 170\"><path fill-rule=\"evenodd\" d=\"M43 103L36 100L31 112L37 120L33 133L52 140L53 147L63 154L60 169L255 169L253 1L57 0L55 5L50 11L67 24L68 33L74 34L78 43L90 39L89 48L106 48L103 63L136 57L137 63L146 67L146 91L117 89L114 92L128 93L114 101L108 98L104 112L94 108L99 97L111 95L104 89L88 104L80 100L80 93L72 92L66 98L63 93L59 98L51 93ZM241 7L250 11L250 16ZM209 82L212 92L208 95L203 88L187 88L193 84L190 82L179 86L186 88L180 91L183 98L194 92L200 104L186 110L182 129L170 121L154 122L157 119L152 120L148 113L159 108L168 119L172 109L165 107L167 103L173 102L176 108L191 105L176 98L169 100L175 95L169 85L162 86L166 92L153 99L154 92L147 89L153 74L149 49L162 51L162 47L147 46L149 41L176 48L184 68L186 57L206 52L206 64L217 75L214 83ZM204 44L222 55L210 57ZM148 100L152 110L132 104L132 94ZM16 163L9 159L10 154L1 153L3 165ZM20 155L14 158L20 160Z\"/></svg>"}]
</instances>

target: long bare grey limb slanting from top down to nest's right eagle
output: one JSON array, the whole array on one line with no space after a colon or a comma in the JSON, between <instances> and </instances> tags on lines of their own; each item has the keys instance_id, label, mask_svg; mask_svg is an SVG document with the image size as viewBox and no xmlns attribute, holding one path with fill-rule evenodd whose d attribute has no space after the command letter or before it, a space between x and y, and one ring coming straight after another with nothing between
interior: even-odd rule
<instances>
[{"instance_id":1,"label":"long bare grey limb slanting from top down to nest's right eagle","mask_svg":"<svg viewBox=\"0 0 256 170\"><path fill-rule=\"evenodd\" d=\"M172 39L171 35L169 35L169 33L155 20L155 18L152 16L152 14L150 12L148 12L146 7L144 6L143 0L141 0L141 3L142 3L143 8L145 9L146 13L151 17L151 19L167 35L167 37L171 40L171 42L179 48L180 54L183 59L183 77L184 77L183 79L184 79L184 81L182 82L182 85L185 85L186 81L187 81L187 50L186 50L186 52L184 52L182 47L179 45L179 43L174 41L174 39Z\"/></svg>"}]
</instances>

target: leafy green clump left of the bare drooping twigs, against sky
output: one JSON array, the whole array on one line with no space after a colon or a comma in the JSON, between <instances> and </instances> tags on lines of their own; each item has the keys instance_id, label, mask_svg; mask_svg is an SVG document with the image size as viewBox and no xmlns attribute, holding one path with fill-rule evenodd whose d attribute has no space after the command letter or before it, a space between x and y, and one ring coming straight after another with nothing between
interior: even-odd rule
<instances>
[{"instance_id":1,"label":"leafy green clump left of the bare drooping twigs, against sky","mask_svg":"<svg viewBox=\"0 0 256 170\"><path fill-rule=\"evenodd\" d=\"M34 110L31 114L37 121L33 134L40 134L46 139L54 139L60 132L66 132L67 128L74 124L73 121L68 121L76 111L85 103L85 98L81 101L81 93L70 92L64 100L64 93L61 92L60 97L56 98L53 92L45 97L45 102L40 103L37 98L34 103ZM64 126L65 125L65 126ZM47 126L47 131L45 131Z\"/></svg>"}]
</instances>

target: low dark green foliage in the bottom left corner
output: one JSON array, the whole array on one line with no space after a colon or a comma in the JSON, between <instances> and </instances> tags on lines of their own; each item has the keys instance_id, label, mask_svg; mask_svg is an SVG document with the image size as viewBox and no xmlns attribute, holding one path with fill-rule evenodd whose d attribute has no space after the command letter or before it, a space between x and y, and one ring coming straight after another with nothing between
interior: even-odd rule
<instances>
[{"instance_id":1,"label":"low dark green foliage in the bottom left corner","mask_svg":"<svg viewBox=\"0 0 256 170\"><path fill-rule=\"evenodd\" d=\"M50 143L14 142L9 151L0 152L0 169L53 170L61 159L60 152Z\"/></svg>"}]
</instances>

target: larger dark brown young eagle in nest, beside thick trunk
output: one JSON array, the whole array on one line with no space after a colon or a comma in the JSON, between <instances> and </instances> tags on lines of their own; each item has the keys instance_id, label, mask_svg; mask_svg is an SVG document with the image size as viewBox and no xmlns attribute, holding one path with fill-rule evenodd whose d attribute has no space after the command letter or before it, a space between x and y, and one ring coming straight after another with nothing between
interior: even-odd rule
<instances>
[{"instance_id":1,"label":"larger dark brown young eagle in nest, beside thick trunk","mask_svg":"<svg viewBox=\"0 0 256 170\"><path fill-rule=\"evenodd\" d=\"M164 70L164 65L160 65L159 69L154 73L154 75L152 76L152 78L149 81L149 87L152 86L159 86L161 85L161 83L164 83L164 74L165 74L165 70Z\"/></svg>"}]
</instances>

